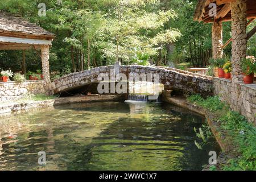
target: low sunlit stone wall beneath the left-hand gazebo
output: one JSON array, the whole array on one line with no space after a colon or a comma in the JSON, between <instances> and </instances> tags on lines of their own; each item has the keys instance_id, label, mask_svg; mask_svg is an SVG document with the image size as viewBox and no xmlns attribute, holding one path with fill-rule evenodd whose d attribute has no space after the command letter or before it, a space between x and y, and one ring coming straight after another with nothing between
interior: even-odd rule
<instances>
[{"instance_id":1,"label":"low sunlit stone wall beneath the left-hand gazebo","mask_svg":"<svg viewBox=\"0 0 256 182\"><path fill-rule=\"evenodd\" d=\"M16 100L26 94L46 93L46 82L24 81L24 82L0 82L0 101Z\"/></svg>"}]
</instances>

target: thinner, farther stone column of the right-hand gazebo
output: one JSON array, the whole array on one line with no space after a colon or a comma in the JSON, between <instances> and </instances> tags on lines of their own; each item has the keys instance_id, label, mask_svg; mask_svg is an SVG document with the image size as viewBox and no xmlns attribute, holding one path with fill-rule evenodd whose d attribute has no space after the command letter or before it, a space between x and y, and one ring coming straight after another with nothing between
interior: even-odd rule
<instances>
[{"instance_id":1,"label":"thinner, farther stone column of the right-hand gazebo","mask_svg":"<svg viewBox=\"0 0 256 182\"><path fill-rule=\"evenodd\" d=\"M212 56L213 59L222 58L222 22L214 22L212 25Z\"/></svg>"}]
</instances>

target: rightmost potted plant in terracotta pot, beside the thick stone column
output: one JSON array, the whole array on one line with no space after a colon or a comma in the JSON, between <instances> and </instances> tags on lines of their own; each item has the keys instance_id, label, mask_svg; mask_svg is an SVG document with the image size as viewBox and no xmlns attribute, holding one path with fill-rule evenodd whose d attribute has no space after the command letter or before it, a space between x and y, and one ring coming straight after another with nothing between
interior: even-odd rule
<instances>
[{"instance_id":1,"label":"rightmost potted plant in terracotta pot, beside the thick stone column","mask_svg":"<svg viewBox=\"0 0 256 182\"><path fill-rule=\"evenodd\" d=\"M245 84L253 84L254 73L256 72L256 62L252 57L246 57L241 60L243 72L243 82Z\"/></svg>"}]
</instances>

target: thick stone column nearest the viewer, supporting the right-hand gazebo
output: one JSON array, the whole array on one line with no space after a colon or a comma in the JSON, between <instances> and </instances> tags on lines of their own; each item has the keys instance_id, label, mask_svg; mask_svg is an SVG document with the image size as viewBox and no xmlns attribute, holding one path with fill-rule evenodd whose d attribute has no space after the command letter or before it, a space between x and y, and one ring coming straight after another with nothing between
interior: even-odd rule
<instances>
[{"instance_id":1,"label":"thick stone column nearest the viewer, supporting the right-hand gazebo","mask_svg":"<svg viewBox=\"0 0 256 182\"><path fill-rule=\"evenodd\" d=\"M246 0L237 0L231 3L232 16L232 80L242 81L240 60L246 57Z\"/></svg>"}]
</instances>

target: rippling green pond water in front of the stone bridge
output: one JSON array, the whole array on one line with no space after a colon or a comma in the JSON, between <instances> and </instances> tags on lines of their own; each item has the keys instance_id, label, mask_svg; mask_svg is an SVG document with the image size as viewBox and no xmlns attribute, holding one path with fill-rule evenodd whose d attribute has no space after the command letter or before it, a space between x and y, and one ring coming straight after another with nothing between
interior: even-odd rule
<instances>
[{"instance_id":1,"label":"rippling green pond water in front of the stone bridge","mask_svg":"<svg viewBox=\"0 0 256 182\"><path fill-rule=\"evenodd\" d=\"M170 104L95 102L0 118L0 170L201 170L193 127L204 118ZM38 152L46 152L45 166Z\"/></svg>"}]
</instances>

